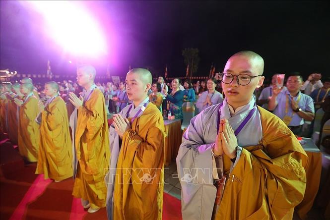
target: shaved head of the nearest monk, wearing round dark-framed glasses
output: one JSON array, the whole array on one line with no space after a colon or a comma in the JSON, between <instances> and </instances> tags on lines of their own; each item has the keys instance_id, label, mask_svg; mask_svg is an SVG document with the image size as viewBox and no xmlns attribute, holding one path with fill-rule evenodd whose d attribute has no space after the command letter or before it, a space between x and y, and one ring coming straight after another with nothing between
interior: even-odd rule
<instances>
[{"instance_id":1,"label":"shaved head of the nearest monk, wearing round dark-framed glasses","mask_svg":"<svg viewBox=\"0 0 330 220\"><path fill-rule=\"evenodd\" d=\"M241 51L232 55L220 74L227 102L235 110L248 104L256 88L264 83L264 59L255 52Z\"/></svg>"}]
</instances>

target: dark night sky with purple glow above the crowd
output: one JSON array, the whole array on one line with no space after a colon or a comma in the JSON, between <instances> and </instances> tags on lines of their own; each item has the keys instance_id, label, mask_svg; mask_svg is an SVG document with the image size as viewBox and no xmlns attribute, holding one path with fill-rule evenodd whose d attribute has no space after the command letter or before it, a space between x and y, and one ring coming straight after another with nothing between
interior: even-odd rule
<instances>
[{"instance_id":1,"label":"dark night sky with purple glow above the crowd","mask_svg":"<svg viewBox=\"0 0 330 220\"><path fill-rule=\"evenodd\" d=\"M328 1L92 1L88 4L107 32L107 57L93 60L100 74L128 66L147 67L157 76L184 76L184 48L199 49L198 73L212 62L221 71L241 50L263 56L265 75L318 71L329 75L330 3ZM72 59L40 28L39 15L15 1L1 1L0 68L75 74ZM59 13L60 16L60 13ZM111 33L110 33L111 32Z\"/></svg>"}]
</instances>

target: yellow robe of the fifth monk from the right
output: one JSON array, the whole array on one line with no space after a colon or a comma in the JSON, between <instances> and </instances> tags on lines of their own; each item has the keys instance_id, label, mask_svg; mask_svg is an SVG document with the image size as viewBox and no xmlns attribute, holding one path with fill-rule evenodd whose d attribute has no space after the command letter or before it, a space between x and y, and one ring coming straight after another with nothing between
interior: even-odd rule
<instances>
[{"instance_id":1,"label":"yellow robe of the fifth monk from the right","mask_svg":"<svg viewBox=\"0 0 330 220\"><path fill-rule=\"evenodd\" d=\"M18 150L29 162L38 161L40 130L39 124L35 121L39 113L38 102L35 96L31 96L19 108Z\"/></svg>"}]
</instances>

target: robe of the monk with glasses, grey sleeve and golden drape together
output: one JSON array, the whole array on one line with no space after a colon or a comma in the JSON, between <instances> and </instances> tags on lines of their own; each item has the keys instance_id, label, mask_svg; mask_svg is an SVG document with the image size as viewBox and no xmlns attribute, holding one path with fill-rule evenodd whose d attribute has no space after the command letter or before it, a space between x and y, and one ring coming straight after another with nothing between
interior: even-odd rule
<instances>
[{"instance_id":1,"label":"robe of the monk with glasses, grey sleeve and golden drape together","mask_svg":"<svg viewBox=\"0 0 330 220\"><path fill-rule=\"evenodd\" d=\"M191 120L179 149L176 161L184 220L212 217L216 198L212 144L204 140L216 136L219 108L220 105L209 107ZM260 143L240 146L243 150L234 167L229 157L222 156L227 181L220 205L213 213L216 220L292 219L294 207L304 197L304 167L308 160L305 151L281 119L261 107L258 111L262 124Z\"/></svg>"}]
</instances>

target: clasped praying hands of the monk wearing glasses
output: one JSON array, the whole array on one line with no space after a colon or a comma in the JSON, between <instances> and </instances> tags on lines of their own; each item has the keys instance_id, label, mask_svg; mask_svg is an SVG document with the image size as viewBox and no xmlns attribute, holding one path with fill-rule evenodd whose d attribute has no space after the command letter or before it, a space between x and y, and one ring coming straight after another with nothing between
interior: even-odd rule
<instances>
[{"instance_id":1,"label":"clasped praying hands of the monk wearing glasses","mask_svg":"<svg viewBox=\"0 0 330 220\"><path fill-rule=\"evenodd\" d=\"M227 155L230 159L236 158L237 138L233 128L227 119L221 119L219 132L215 138L215 145L212 149L215 156Z\"/></svg>"}]
</instances>

